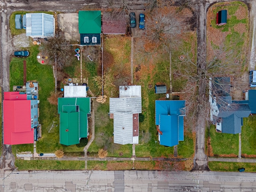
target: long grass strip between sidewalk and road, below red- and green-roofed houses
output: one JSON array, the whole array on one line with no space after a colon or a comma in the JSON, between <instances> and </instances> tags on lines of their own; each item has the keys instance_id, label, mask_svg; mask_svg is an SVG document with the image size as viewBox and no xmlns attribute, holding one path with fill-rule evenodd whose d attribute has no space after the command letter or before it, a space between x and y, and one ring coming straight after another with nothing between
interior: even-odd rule
<instances>
[{"instance_id":1,"label":"long grass strip between sidewalk and road, below red- and green-roofed houses","mask_svg":"<svg viewBox=\"0 0 256 192\"><path fill-rule=\"evenodd\" d=\"M18 170L84 170L84 161L15 160Z\"/></svg>"}]
</instances>

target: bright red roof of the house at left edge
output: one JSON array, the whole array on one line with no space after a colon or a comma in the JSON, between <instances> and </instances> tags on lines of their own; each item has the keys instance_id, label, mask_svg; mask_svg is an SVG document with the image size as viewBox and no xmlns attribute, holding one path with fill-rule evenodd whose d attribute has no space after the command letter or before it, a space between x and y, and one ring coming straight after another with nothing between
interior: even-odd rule
<instances>
[{"instance_id":1,"label":"bright red roof of the house at left edge","mask_svg":"<svg viewBox=\"0 0 256 192\"><path fill-rule=\"evenodd\" d=\"M24 100L24 95L26 96L26 94L16 92L4 93L4 144L34 143L34 128L31 128L31 103L30 100Z\"/></svg>"}]
</instances>

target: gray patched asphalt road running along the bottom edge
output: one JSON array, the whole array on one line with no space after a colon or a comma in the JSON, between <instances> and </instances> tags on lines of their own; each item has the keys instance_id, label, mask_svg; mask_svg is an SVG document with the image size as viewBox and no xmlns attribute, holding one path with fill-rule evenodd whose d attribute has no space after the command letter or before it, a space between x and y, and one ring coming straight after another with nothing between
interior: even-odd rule
<instances>
[{"instance_id":1,"label":"gray patched asphalt road running along the bottom edge","mask_svg":"<svg viewBox=\"0 0 256 192\"><path fill-rule=\"evenodd\" d=\"M6 172L0 192L252 192L255 174L240 172L20 171ZM3 179L4 178L4 179Z\"/></svg>"}]
</instances>

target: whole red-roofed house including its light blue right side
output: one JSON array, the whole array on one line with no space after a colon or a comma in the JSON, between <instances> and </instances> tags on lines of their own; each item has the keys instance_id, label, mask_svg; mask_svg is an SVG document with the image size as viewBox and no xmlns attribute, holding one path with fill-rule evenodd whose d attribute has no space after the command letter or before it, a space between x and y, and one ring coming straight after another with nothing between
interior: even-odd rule
<instances>
[{"instance_id":1,"label":"whole red-roofed house including its light blue right side","mask_svg":"<svg viewBox=\"0 0 256 192\"><path fill-rule=\"evenodd\" d=\"M4 144L29 144L37 140L38 103L37 96L32 94L4 92Z\"/></svg>"}]
</instances>

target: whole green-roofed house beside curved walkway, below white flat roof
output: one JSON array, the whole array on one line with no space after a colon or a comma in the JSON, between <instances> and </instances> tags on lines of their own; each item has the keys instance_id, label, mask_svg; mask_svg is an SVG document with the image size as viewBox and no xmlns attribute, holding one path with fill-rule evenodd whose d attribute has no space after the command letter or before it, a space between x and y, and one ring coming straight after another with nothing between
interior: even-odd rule
<instances>
[{"instance_id":1,"label":"whole green-roofed house beside curved walkway, below white flat roof","mask_svg":"<svg viewBox=\"0 0 256 192\"><path fill-rule=\"evenodd\" d=\"M80 138L88 136L88 114L90 98L58 98L60 114L60 144L79 144Z\"/></svg>"}]
</instances>

